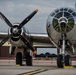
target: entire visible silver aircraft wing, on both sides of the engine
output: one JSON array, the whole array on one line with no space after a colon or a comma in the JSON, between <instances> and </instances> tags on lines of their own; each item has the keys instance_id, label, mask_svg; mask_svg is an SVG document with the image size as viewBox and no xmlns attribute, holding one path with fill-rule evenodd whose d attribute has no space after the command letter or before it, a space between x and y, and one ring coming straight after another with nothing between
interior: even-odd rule
<instances>
[{"instance_id":1,"label":"entire visible silver aircraft wing, on both sides of the engine","mask_svg":"<svg viewBox=\"0 0 76 75\"><path fill-rule=\"evenodd\" d=\"M0 40L8 36L8 33L0 32ZM44 48L44 47L54 47L51 43L47 33L26 33L27 39L33 44L33 47Z\"/></svg>"}]
</instances>

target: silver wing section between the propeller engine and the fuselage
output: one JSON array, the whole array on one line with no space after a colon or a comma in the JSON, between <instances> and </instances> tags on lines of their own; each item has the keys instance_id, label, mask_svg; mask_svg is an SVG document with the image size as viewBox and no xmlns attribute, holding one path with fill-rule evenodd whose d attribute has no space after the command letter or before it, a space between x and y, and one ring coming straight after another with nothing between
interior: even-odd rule
<instances>
[{"instance_id":1,"label":"silver wing section between the propeller engine and the fuselage","mask_svg":"<svg viewBox=\"0 0 76 75\"><path fill-rule=\"evenodd\" d=\"M33 43L34 47L54 47L51 43L47 33L34 33L34 34L27 34L27 37L30 38L30 41Z\"/></svg>"}]
</instances>

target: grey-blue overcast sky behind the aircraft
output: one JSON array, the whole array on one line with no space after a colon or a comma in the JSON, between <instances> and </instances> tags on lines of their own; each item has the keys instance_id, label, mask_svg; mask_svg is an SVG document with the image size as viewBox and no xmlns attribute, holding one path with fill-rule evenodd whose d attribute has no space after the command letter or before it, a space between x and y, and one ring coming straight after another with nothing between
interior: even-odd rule
<instances>
[{"instance_id":1,"label":"grey-blue overcast sky behind the aircraft","mask_svg":"<svg viewBox=\"0 0 76 75\"><path fill-rule=\"evenodd\" d=\"M76 0L0 0L0 12L11 23L20 23L38 9L38 13L25 25L25 28L31 33L46 33L46 20L49 14L60 7L75 8L75 2ZM0 31L8 31L8 26L1 19Z\"/></svg>"}]
</instances>

